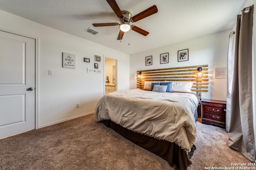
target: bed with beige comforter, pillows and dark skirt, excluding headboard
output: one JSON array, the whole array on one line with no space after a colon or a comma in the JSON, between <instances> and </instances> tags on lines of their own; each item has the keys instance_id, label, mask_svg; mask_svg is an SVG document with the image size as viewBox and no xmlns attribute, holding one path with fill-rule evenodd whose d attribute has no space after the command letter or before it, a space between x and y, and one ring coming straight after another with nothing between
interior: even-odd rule
<instances>
[{"instance_id":1,"label":"bed with beige comforter, pillows and dark skirt, excluding headboard","mask_svg":"<svg viewBox=\"0 0 256 170\"><path fill-rule=\"evenodd\" d=\"M195 150L197 107L200 100L191 90L175 91L177 84L188 84L185 82L170 82L172 90L166 84L153 82L150 82L150 89L147 89L148 82L143 83L143 89L104 95L95 109L96 121L160 156L170 166L186 170ZM164 92L156 90L156 87L164 88ZM166 89L169 91L166 92Z\"/></svg>"}]
</instances>

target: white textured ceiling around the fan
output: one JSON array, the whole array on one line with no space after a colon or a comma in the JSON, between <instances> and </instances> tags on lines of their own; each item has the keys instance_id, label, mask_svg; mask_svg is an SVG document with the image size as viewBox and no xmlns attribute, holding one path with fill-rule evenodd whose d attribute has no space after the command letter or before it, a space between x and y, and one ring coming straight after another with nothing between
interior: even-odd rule
<instances>
[{"instance_id":1,"label":"white textured ceiling around the fan","mask_svg":"<svg viewBox=\"0 0 256 170\"><path fill-rule=\"evenodd\" d=\"M122 51L127 54L170 45L231 29L245 0L116 0L120 10L135 16L156 5L158 12L133 23L149 32L135 31L116 40L118 26L94 27L92 23L118 22L106 0L0 0L0 10ZM91 27L97 35L85 32ZM210 41L210 40L209 40ZM128 45L130 43L130 45Z\"/></svg>"}]
</instances>

